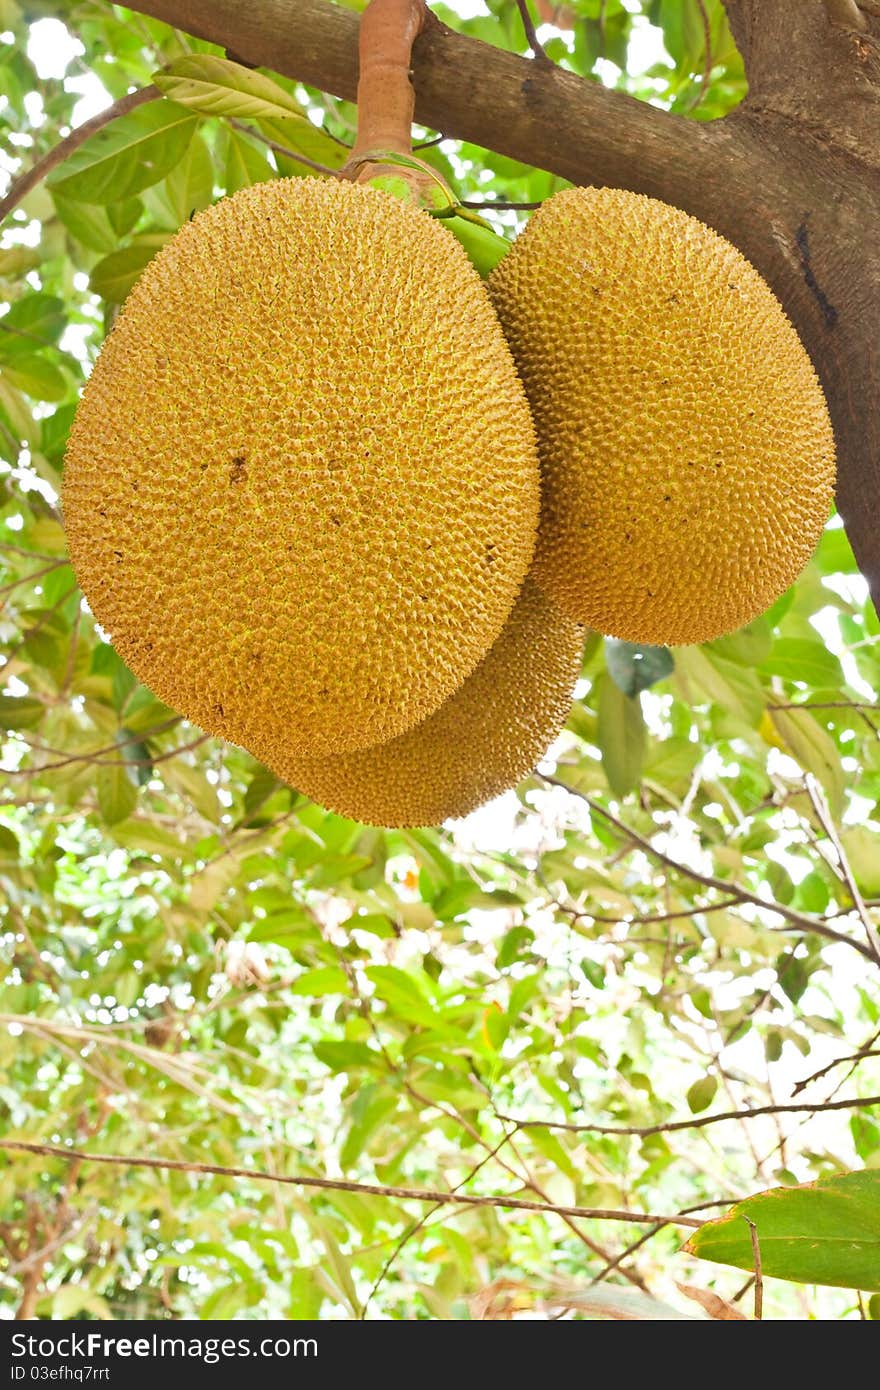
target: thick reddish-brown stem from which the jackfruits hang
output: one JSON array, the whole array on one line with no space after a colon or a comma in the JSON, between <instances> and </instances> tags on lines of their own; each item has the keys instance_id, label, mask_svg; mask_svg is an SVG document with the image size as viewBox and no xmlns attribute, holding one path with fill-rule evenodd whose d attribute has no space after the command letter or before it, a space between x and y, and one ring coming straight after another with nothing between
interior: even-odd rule
<instances>
[{"instance_id":1,"label":"thick reddish-brown stem from which the jackfruits hang","mask_svg":"<svg viewBox=\"0 0 880 1390\"><path fill-rule=\"evenodd\" d=\"M357 138L343 175L374 178L371 154L412 154L416 93L410 82L413 43L428 18L424 0L370 0L360 17ZM399 171L406 177L407 171Z\"/></svg>"}]
</instances>

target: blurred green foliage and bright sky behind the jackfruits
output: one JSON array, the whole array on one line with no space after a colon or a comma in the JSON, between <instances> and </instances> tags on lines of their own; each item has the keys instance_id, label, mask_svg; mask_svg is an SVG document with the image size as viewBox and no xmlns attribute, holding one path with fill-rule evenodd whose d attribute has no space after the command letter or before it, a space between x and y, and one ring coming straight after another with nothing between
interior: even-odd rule
<instances>
[{"instance_id":1,"label":"blurred green foliage and bright sky behind the jackfruits","mask_svg":"<svg viewBox=\"0 0 880 1390\"><path fill-rule=\"evenodd\" d=\"M730 4L734 44L710 0L571 0L532 58L516 4L475 8L437 6L452 28L418 39L421 154L468 202L612 182L740 245L823 375L877 577L874 7ZM742 1275L680 1252L687 1222L880 1166L880 624L840 521L741 632L591 638L519 796L443 831L325 813L133 681L82 606L57 485L85 366L156 249L222 192L345 161L356 14L1 0L0 31L3 167L36 171L0 242L3 1143L124 1159L6 1148L10 1314L735 1297ZM272 70L264 108L228 65L131 96L224 53ZM61 161L108 103L103 156ZM870 1307L765 1291L776 1316Z\"/></svg>"}]
</instances>

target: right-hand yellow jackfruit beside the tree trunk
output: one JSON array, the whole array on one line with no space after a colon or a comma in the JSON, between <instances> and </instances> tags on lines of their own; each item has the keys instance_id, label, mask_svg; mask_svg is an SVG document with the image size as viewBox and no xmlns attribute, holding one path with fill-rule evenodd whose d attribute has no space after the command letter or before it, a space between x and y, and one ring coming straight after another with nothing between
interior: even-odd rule
<instances>
[{"instance_id":1,"label":"right-hand yellow jackfruit beside the tree trunk","mask_svg":"<svg viewBox=\"0 0 880 1390\"><path fill-rule=\"evenodd\" d=\"M659 645L763 612L827 520L834 442L753 267L678 208L578 188L531 218L489 292L538 431L551 598Z\"/></svg>"}]
</instances>

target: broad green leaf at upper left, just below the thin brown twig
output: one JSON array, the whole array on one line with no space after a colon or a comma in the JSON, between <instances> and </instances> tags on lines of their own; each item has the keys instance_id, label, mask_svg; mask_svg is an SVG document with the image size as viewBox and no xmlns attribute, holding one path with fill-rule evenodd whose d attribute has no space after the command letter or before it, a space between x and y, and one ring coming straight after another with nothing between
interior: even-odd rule
<instances>
[{"instance_id":1,"label":"broad green leaf at upper left, just below the thin brown twig","mask_svg":"<svg viewBox=\"0 0 880 1390\"><path fill-rule=\"evenodd\" d=\"M149 101L92 135L46 182L82 203L132 197L171 172L197 124L186 107Z\"/></svg>"}]
</instances>

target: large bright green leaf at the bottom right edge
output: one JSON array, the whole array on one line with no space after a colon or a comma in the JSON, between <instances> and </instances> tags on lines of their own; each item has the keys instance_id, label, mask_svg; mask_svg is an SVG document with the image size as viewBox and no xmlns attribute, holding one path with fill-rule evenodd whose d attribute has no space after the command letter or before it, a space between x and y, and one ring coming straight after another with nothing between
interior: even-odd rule
<instances>
[{"instance_id":1,"label":"large bright green leaf at the bottom right edge","mask_svg":"<svg viewBox=\"0 0 880 1390\"><path fill-rule=\"evenodd\" d=\"M753 1269L755 1223L762 1273L801 1284L880 1289L880 1170L774 1187L708 1222L684 1247L701 1259Z\"/></svg>"}]
</instances>

